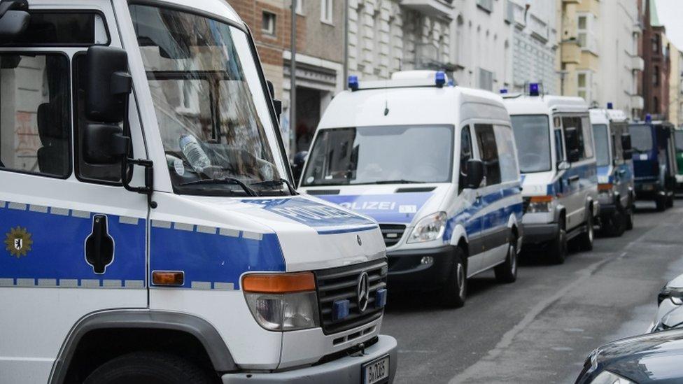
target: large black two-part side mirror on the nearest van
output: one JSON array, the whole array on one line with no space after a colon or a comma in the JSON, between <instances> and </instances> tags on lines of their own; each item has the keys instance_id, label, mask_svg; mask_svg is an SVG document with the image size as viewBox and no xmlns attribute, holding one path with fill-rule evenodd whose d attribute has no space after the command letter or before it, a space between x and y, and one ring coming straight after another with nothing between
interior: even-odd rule
<instances>
[{"instance_id":1,"label":"large black two-part side mirror on the nearest van","mask_svg":"<svg viewBox=\"0 0 683 384\"><path fill-rule=\"evenodd\" d=\"M83 132L83 159L90 164L113 165L128 155L128 96L132 80L125 50L94 46L85 57L85 115L94 121ZM124 128L119 124L124 121Z\"/></svg>"}]
</instances>

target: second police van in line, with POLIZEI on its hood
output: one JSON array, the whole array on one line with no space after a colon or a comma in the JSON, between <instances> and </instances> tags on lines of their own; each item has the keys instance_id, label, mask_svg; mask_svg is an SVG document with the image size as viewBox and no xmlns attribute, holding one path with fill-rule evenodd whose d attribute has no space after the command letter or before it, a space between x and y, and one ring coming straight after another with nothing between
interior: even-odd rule
<instances>
[{"instance_id":1,"label":"second police van in line, with POLIZEI on its hood","mask_svg":"<svg viewBox=\"0 0 683 384\"><path fill-rule=\"evenodd\" d=\"M461 306L481 271L512 283L522 199L502 99L435 71L349 87L318 125L302 192L379 222L392 290L439 290Z\"/></svg>"}]
</instances>

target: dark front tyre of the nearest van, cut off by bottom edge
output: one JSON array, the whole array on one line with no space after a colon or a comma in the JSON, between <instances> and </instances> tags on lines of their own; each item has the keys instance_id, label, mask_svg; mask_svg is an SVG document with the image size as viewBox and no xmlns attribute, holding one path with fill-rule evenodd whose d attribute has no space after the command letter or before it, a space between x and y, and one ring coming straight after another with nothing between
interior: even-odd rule
<instances>
[{"instance_id":1,"label":"dark front tyre of the nearest van, cut off by bottom edge","mask_svg":"<svg viewBox=\"0 0 683 384\"><path fill-rule=\"evenodd\" d=\"M134 352L116 357L95 369L84 384L213 383L205 371L176 355Z\"/></svg>"}]
</instances>

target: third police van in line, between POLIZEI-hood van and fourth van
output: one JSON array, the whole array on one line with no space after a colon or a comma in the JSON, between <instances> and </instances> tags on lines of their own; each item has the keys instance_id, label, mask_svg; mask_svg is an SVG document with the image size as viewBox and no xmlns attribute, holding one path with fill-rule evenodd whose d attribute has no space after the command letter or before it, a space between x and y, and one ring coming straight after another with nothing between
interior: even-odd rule
<instances>
[{"instance_id":1,"label":"third police van in line, between POLIZEI-hood van and fourth van","mask_svg":"<svg viewBox=\"0 0 683 384\"><path fill-rule=\"evenodd\" d=\"M519 152L524 196L524 245L543 246L562 263L568 240L593 248L599 211L593 129L584 99L542 94L531 83L525 94L506 95Z\"/></svg>"}]
</instances>

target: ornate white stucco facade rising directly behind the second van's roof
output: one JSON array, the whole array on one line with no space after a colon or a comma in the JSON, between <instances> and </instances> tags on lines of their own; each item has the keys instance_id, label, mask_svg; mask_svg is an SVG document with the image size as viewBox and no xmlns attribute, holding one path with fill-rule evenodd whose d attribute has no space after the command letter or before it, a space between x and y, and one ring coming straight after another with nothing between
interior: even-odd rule
<instances>
[{"instance_id":1,"label":"ornate white stucco facade rising directly behind the second van's roof","mask_svg":"<svg viewBox=\"0 0 683 384\"><path fill-rule=\"evenodd\" d=\"M407 69L452 71L453 0L349 0L348 73L389 78Z\"/></svg>"}]
</instances>

